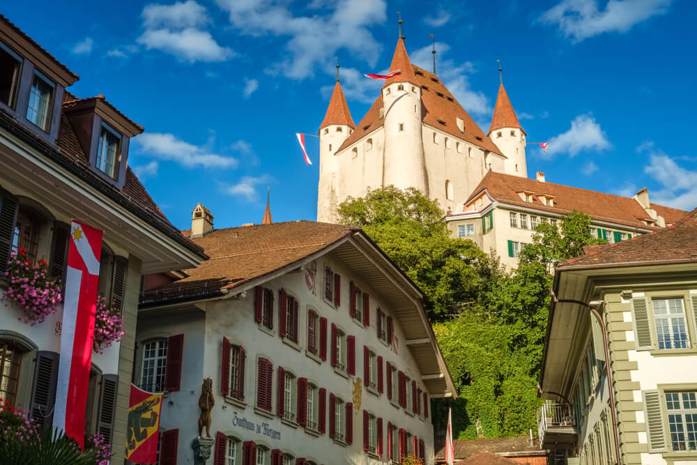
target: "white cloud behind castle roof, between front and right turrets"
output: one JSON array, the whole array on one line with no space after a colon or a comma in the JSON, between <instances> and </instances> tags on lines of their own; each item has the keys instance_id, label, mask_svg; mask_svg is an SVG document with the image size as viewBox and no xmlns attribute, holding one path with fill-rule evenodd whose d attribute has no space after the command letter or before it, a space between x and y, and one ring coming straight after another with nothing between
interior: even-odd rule
<instances>
[{"instance_id":1,"label":"white cloud behind castle roof, between front and right turrets","mask_svg":"<svg viewBox=\"0 0 697 465\"><path fill-rule=\"evenodd\" d=\"M409 59L416 66L432 70L433 54L431 50L431 45L422 47L411 53ZM467 75L475 72L473 63L465 61L457 64L452 59L443 58L448 50L450 50L448 45L436 42L436 71L438 72L438 77L441 78L443 84L469 114L491 115L493 108L489 103L489 98L482 92L474 91L470 86Z\"/></svg>"}]
</instances>

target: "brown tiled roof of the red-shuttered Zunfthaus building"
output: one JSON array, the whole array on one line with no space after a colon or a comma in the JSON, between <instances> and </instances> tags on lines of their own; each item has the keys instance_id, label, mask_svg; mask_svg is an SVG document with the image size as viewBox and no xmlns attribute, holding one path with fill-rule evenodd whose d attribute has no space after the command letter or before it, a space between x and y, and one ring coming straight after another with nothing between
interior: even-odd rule
<instances>
[{"instance_id":1,"label":"brown tiled roof of the red-shuttered Zunfthaus building","mask_svg":"<svg viewBox=\"0 0 697 465\"><path fill-rule=\"evenodd\" d=\"M183 280L146 291L141 303L220 294L301 261L355 231L358 229L340 224L304 220L214 229L192 239L210 259L186 270Z\"/></svg>"}]
</instances>

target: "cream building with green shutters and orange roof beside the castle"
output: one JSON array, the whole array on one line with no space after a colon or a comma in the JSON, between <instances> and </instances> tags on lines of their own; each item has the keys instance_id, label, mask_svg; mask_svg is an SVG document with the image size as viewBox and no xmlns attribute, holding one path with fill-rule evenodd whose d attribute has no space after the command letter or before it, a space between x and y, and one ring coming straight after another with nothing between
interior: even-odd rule
<instances>
[{"instance_id":1,"label":"cream building with green shutters and orange roof beside the castle","mask_svg":"<svg viewBox=\"0 0 697 465\"><path fill-rule=\"evenodd\" d=\"M590 215L592 233L611 244L669 227L687 213L651 204L648 196L645 188L630 198L548 183L539 171L536 179L491 171L445 222L453 236L497 251L512 269L537 224L556 223L574 210Z\"/></svg>"}]
</instances>

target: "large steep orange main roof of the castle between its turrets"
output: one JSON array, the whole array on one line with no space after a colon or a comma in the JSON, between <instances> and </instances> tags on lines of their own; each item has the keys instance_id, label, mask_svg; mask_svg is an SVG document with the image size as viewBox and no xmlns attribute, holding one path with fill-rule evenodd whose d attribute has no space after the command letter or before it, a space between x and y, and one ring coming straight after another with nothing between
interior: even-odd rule
<instances>
[{"instance_id":1,"label":"large steep orange main roof of the castle between its turrets","mask_svg":"<svg viewBox=\"0 0 697 465\"><path fill-rule=\"evenodd\" d=\"M482 129L461 107L459 102L455 100L450 91L443 85L441 79L438 79L438 76L418 66L411 65L411 70L416 79L415 84L421 87L421 101L424 105L422 121L424 124L466 140L470 144L484 148L484 150L503 156L496 144L491 142L491 139L482 132ZM402 72L404 73L404 69ZM399 77L402 77L402 79L399 79ZM404 82L404 77L401 75L391 77L390 79L396 79L395 82ZM388 79L388 82L390 79ZM353 134L339 147L339 151L351 146L351 144L380 128L385 123L385 119L380 118L380 109L382 107L383 94L381 93L373 106L363 116L360 123L358 123L358 127L355 128ZM464 122L464 132L460 132L457 128L457 118Z\"/></svg>"}]
</instances>

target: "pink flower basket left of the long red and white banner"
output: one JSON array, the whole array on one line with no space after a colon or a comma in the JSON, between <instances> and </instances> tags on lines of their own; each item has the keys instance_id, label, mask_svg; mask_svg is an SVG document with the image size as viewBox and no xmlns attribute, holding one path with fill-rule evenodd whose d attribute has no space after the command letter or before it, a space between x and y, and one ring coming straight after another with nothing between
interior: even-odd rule
<instances>
[{"instance_id":1,"label":"pink flower basket left of the long red and white banner","mask_svg":"<svg viewBox=\"0 0 697 465\"><path fill-rule=\"evenodd\" d=\"M7 289L2 300L14 300L24 313L20 320L34 326L56 312L61 301L61 280L49 275L45 261L32 263L26 258L26 250L18 250L7 262Z\"/></svg>"}]
</instances>

